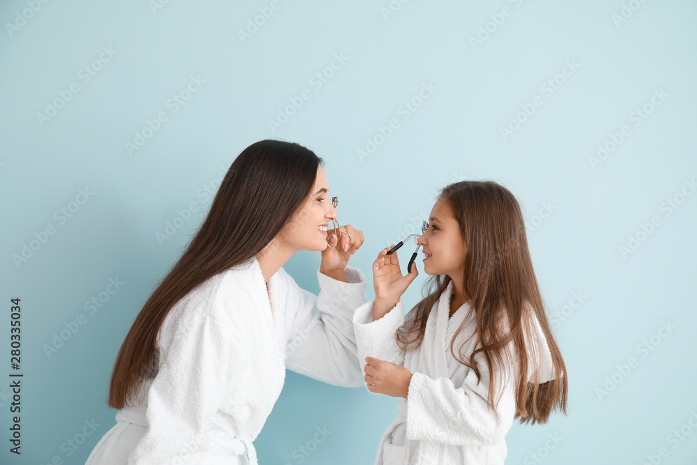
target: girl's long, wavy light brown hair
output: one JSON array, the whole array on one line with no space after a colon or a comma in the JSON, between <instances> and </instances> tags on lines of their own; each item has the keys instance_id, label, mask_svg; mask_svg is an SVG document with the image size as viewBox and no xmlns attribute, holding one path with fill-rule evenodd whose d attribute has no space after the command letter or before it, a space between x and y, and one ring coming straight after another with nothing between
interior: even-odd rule
<instances>
[{"instance_id":1,"label":"girl's long, wavy light brown hair","mask_svg":"<svg viewBox=\"0 0 697 465\"><path fill-rule=\"evenodd\" d=\"M470 311L474 312L477 321L477 342L483 342L470 360L464 360L462 346L458 355L455 354L455 338L467 323L463 321L450 341L450 353L459 363L474 369L477 382L481 380L480 369L472 363L477 353L483 353L492 377L495 372L510 367L513 361L510 357L515 357L519 367L514 374L515 418L520 418L521 423L545 423L555 408L566 413L566 367L545 315L518 201L509 190L493 181L452 183L441 190L440 198L450 207L468 248L464 257L464 282L461 284L470 298ZM426 297L413 307L404 326L397 332L397 343L402 349L414 350L421 345L431 308L450 281L447 275L433 275L424 283ZM537 369L533 372L533 382L528 382L528 359L535 359L535 354L528 353L535 328L533 313L553 361L555 379L544 383L537 382ZM507 333L501 321L507 321L510 327ZM506 350L511 341L515 353ZM496 410L493 407L493 388L492 379L487 405Z\"/></svg>"}]
</instances>

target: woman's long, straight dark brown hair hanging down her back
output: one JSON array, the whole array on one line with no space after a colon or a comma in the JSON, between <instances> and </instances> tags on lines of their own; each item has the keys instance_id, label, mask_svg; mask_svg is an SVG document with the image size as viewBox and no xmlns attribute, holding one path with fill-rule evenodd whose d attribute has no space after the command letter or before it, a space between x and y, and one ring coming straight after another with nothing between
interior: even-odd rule
<instances>
[{"instance_id":1,"label":"woman's long, straight dark brown hair hanging down her back","mask_svg":"<svg viewBox=\"0 0 697 465\"><path fill-rule=\"evenodd\" d=\"M171 308L202 282L261 252L307 201L324 162L308 148L262 140L233 161L206 220L133 322L116 356L107 405L122 409L158 367L157 336Z\"/></svg>"}]
</instances>

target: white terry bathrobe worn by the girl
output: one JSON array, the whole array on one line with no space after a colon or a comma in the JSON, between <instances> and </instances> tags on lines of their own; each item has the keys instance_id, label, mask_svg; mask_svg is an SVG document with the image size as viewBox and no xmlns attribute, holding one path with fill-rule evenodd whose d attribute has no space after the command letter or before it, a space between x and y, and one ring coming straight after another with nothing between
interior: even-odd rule
<instances>
[{"instance_id":1,"label":"white terry bathrobe worn by the girl","mask_svg":"<svg viewBox=\"0 0 697 465\"><path fill-rule=\"evenodd\" d=\"M450 341L460 323L468 323L455 340L454 351L475 334L476 321L470 305L462 305L452 318L450 295L453 282L434 304L426 324L424 340L418 349L405 353L395 340L397 328L404 323L404 307L399 300L384 317L373 321L371 300L356 310L353 327L358 358L365 365L371 356L402 365L413 373L407 398L397 405L399 415L383 434L375 465L499 465L504 463L507 447L504 437L513 424L516 404L512 369L495 370L496 387L509 380L503 394L494 391L496 413L487 409L489 369L486 358L477 353L475 362L482 374L477 386L473 369L459 363L450 353ZM539 382L553 379L552 360L542 328L535 320L536 335L526 339L535 363L541 368ZM503 323L507 328L507 323ZM464 360L472 355L477 337L464 346ZM480 344L477 344L479 346ZM512 344L509 344L512 347ZM535 361L537 360L537 361ZM511 365L515 367L516 364ZM514 368L513 368L514 369Z\"/></svg>"}]
</instances>

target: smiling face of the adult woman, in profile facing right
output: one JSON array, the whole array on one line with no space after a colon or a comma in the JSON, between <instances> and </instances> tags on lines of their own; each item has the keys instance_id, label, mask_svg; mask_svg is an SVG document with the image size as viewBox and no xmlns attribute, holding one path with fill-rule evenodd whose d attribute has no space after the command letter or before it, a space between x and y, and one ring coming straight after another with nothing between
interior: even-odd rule
<instances>
[{"instance_id":1,"label":"smiling face of the adult woman, in profile facing right","mask_svg":"<svg viewBox=\"0 0 697 465\"><path fill-rule=\"evenodd\" d=\"M337 218L337 211L328 198L329 186L327 176L321 166L317 167L317 176L310 196L305 201L290 224L284 228L282 240L292 250L325 250L327 232L321 227L328 227L329 221Z\"/></svg>"}]
</instances>

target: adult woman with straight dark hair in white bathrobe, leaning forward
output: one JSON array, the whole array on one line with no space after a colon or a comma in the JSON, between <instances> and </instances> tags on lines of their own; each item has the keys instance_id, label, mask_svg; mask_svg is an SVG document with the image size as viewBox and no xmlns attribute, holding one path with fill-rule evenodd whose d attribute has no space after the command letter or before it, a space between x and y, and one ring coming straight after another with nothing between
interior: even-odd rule
<instances>
[{"instance_id":1,"label":"adult woman with straight dark hair in white bathrobe, leaning forward","mask_svg":"<svg viewBox=\"0 0 697 465\"><path fill-rule=\"evenodd\" d=\"M346 264L363 236L347 225L351 239L334 231L328 247L323 229L337 212L322 165L307 148L274 140L232 163L121 346L108 398L118 422L87 465L256 464L252 441L286 367L361 385L351 317L367 280ZM319 296L282 268L297 250L323 251Z\"/></svg>"}]
</instances>

